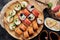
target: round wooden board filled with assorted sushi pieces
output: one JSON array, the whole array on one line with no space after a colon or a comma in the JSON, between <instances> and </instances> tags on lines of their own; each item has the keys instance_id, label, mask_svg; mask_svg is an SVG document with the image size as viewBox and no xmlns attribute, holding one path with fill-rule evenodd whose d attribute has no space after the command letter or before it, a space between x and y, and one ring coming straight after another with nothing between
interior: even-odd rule
<instances>
[{"instance_id":1,"label":"round wooden board filled with assorted sushi pieces","mask_svg":"<svg viewBox=\"0 0 60 40\"><path fill-rule=\"evenodd\" d=\"M41 32L44 16L34 4L13 0L2 9L0 22L14 38L29 40Z\"/></svg>"}]
</instances>

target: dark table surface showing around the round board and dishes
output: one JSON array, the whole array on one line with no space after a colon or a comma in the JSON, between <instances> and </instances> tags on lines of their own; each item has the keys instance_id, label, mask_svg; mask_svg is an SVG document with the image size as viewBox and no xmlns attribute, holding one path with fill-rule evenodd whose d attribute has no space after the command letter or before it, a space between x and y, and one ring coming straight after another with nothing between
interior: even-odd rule
<instances>
[{"instance_id":1,"label":"dark table surface showing around the round board and dishes","mask_svg":"<svg viewBox=\"0 0 60 40\"><path fill-rule=\"evenodd\" d=\"M8 3L9 1L10 1L10 0L0 0L0 11L1 11L1 9L3 8L3 6L4 6L6 3ZM49 14L48 14L48 12L47 12L47 9L45 9L43 12L44 12L44 18L50 17ZM48 32L52 31L52 30L49 30L48 28L46 28L45 25L44 25L44 27L43 27L42 30L47 30ZM53 31L53 32L54 32L54 31ZM60 35L60 32L57 32L57 33ZM40 34L39 34L39 35L40 35ZM31 40L38 40L39 35L38 35L37 37L31 39ZM5 29L3 29L3 28L1 27L1 25L0 25L0 40L17 40L17 39L15 39L15 38L13 38L12 36L10 36L10 35L7 33L7 31L6 31Z\"/></svg>"}]
</instances>

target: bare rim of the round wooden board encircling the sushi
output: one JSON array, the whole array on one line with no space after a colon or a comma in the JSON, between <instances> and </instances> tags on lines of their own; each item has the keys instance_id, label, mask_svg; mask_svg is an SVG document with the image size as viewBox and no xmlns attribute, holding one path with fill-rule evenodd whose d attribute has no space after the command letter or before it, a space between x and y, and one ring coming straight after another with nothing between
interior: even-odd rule
<instances>
[{"instance_id":1,"label":"bare rim of the round wooden board encircling the sushi","mask_svg":"<svg viewBox=\"0 0 60 40\"><path fill-rule=\"evenodd\" d=\"M17 37L17 36L15 35L15 32L10 31L9 28L8 28L8 26L5 25L4 22L3 22L4 13L5 13L6 9L7 9L11 4L13 4L13 3L16 2L16 1L22 2L23 0L12 0L12 1L10 1L9 3L7 3L7 4L3 7L3 9L1 10L0 24L1 24L1 26L2 26L11 36L13 36L13 37L16 38L16 39L22 39L22 38L20 38L20 37ZM44 22L44 15L43 15L43 12L41 11L40 7L38 6L38 4L36 4L36 3L33 2L32 0L27 0L27 2L30 3L30 4L33 4L33 5L35 6L35 8L40 12L40 16L39 16L39 17L40 17L40 18L43 20L43 22ZM34 38L35 36L37 36L37 35L41 32L42 28L43 28L43 24L40 25L39 29L37 30L37 33L34 34L34 36L29 37L28 39L32 39L32 38Z\"/></svg>"}]
</instances>

